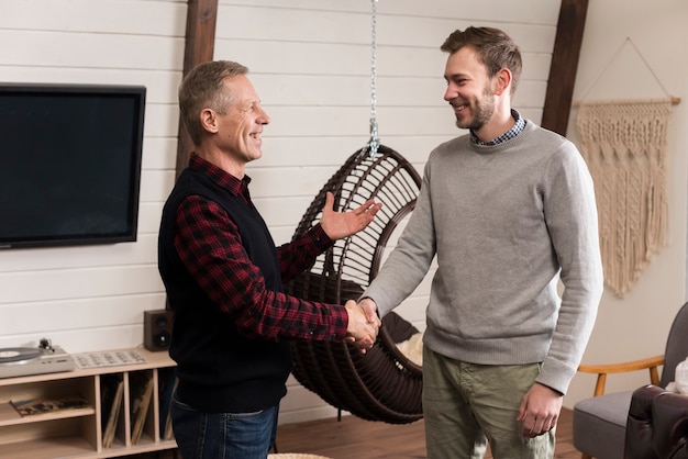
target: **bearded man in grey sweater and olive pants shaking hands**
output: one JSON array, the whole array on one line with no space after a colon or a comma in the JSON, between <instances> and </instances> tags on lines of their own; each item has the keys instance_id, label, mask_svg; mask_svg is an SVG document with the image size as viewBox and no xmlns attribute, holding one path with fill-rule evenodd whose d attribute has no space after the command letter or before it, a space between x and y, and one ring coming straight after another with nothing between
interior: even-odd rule
<instances>
[{"instance_id":1,"label":"bearded man in grey sweater and olive pants shaking hands","mask_svg":"<svg viewBox=\"0 0 688 459\"><path fill-rule=\"evenodd\" d=\"M602 292L592 181L576 147L511 108L502 31L452 33L444 99L469 132L430 155L414 212L360 304L397 306L437 257L423 340L430 458L552 458ZM557 283L562 281L562 298Z\"/></svg>"}]
</instances>

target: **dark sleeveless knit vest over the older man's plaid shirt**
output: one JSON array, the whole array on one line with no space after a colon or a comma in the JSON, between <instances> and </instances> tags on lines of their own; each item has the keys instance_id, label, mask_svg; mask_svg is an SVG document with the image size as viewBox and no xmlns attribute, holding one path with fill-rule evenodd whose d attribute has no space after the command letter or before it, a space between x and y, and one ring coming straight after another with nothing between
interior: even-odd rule
<instances>
[{"instance_id":1,"label":"dark sleeveless knit vest over the older man's plaid shirt","mask_svg":"<svg viewBox=\"0 0 688 459\"><path fill-rule=\"evenodd\" d=\"M289 344L241 336L230 314L219 311L175 250L176 209L193 194L228 212L267 289L282 290L275 243L258 211L204 173L185 169L163 209L158 238L158 268L175 312L169 354L177 362L179 398L203 412L242 413L274 406L287 393Z\"/></svg>"}]
</instances>

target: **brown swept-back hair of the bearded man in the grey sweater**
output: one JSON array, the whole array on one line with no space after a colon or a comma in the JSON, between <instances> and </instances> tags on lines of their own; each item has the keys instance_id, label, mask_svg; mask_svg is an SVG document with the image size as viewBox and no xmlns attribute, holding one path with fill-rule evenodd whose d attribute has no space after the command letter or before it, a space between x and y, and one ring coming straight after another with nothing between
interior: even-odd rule
<instances>
[{"instance_id":1,"label":"brown swept-back hair of the bearded man in the grey sweater","mask_svg":"<svg viewBox=\"0 0 688 459\"><path fill-rule=\"evenodd\" d=\"M499 29L470 26L465 31L452 32L440 49L454 54L464 46L470 46L476 51L490 78L502 68L508 68L511 71L511 94L513 94L521 78L523 64L521 52L509 35Z\"/></svg>"}]
</instances>

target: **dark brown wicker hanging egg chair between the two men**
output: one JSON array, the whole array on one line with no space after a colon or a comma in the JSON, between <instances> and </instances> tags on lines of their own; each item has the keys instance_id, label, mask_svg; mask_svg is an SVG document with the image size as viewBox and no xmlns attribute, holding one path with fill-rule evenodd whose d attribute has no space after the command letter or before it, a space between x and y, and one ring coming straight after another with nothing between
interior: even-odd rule
<instances>
[{"instance_id":1,"label":"dark brown wicker hanging egg chair between the two men","mask_svg":"<svg viewBox=\"0 0 688 459\"><path fill-rule=\"evenodd\" d=\"M344 304L357 299L377 275L386 244L415 205L421 179L401 155L379 145L369 156L352 155L328 181L301 219L295 237L322 216L325 193L335 210L349 210L375 198L382 209L362 232L337 240L310 271L286 286L296 296ZM377 343L366 355L349 344L299 340L292 344L295 378L325 402L368 421L406 424L422 417L422 368L397 344L418 329L397 314L382 320Z\"/></svg>"}]
</instances>

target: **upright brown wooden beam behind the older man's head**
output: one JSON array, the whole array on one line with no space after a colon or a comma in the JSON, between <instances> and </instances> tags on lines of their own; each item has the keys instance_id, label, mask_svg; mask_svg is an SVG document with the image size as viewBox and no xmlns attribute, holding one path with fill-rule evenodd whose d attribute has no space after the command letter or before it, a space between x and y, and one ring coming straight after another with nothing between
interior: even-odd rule
<instances>
[{"instance_id":1,"label":"upright brown wooden beam behind the older man's head","mask_svg":"<svg viewBox=\"0 0 688 459\"><path fill-rule=\"evenodd\" d=\"M189 0L187 10L187 32L184 48L184 76L201 63L212 60L215 47L215 23L218 0ZM189 161L193 143L187 133L184 121L179 120L177 143L177 177Z\"/></svg>"}]
</instances>

